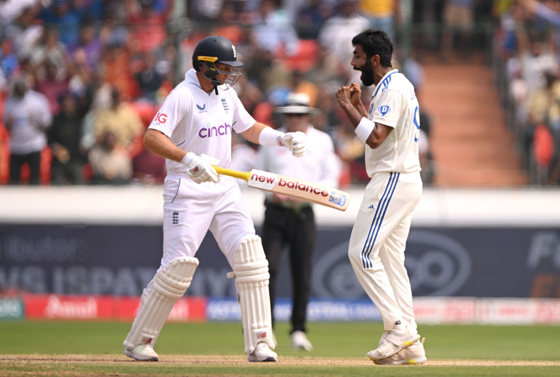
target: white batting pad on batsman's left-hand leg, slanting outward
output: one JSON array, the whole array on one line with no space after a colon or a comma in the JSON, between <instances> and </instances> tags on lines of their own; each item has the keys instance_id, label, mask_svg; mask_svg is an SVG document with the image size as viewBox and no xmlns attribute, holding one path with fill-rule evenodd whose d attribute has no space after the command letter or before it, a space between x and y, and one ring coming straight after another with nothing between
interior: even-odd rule
<instances>
[{"instance_id":1,"label":"white batting pad on batsman's left-hand leg, slanting outward","mask_svg":"<svg viewBox=\"0 0 560 377\"><path fill-rule=\"evenodd\" d=\"M183 297L186 288L190 286L197 266L197 258L178 257L156 273L152 290L147 297L142 297L143 305L124 339L124 348L155 342L175 301Z\"/></svg>"}]
</instances>

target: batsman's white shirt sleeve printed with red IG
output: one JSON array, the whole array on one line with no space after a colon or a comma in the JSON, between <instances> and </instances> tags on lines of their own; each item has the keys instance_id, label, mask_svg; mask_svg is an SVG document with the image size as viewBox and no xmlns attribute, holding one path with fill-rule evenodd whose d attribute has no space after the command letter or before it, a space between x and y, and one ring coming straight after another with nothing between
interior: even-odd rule
<instances>
[{"instance_id":1,"label":"batsman's white shirt sleeve printed with red IG","mask_svg":"<svg viewBox=\"0 0 560 377\"><path fill-rule=\"evenodd\" d=\"M179 90L173 90L161 105L148 128L157 129L170 138L181 119L191 111L191 107L189 96Z\"/></svg>"}]
</instances>

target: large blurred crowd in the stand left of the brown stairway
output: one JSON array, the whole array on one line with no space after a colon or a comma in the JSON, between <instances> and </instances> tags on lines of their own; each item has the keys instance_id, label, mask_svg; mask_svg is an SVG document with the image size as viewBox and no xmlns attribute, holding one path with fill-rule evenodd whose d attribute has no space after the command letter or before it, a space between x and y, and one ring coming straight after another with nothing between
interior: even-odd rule
<instances>
[{"instance_id":1,"label":"large blurred crowd in the stand left of the brown stairway","mask_svg":"<svg viewBox=\"0 0 560 377\"><path fill-rule=\"evenodd\" d=\"M449 0L450 3L464 1ZM144 130L192 67L207 35L222 35L245 63L234 86L255 119L279 127L290 92L304 92L332 136L340 184L368 181L365 145L334 102L360 82L351 39L369 27L396 36L399 0L0 0L0 183L161 183L165 161L142 145ZM451 17L451 16L449 16ZM456 17L461 17L460 15ZM398 42L396 43L398 45ZM417 91L424 76L398 61ZM368 103L371 88L363 91ZM423 117L423 178L433 169ZM234 165L256 146L234 137Z\"/></svg>"}]
</instances>

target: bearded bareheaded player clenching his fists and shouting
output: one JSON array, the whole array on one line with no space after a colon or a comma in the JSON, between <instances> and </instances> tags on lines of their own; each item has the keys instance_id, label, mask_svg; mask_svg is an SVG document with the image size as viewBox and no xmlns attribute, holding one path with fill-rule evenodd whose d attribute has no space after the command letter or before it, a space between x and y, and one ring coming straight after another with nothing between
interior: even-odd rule
<instances>
[{"instance_id":1,"label":"bearded bareheaded player clenching his fists and shouting","mask_svg":"<svg viewBox=\"0 0 560 377\"><path fill-rule=\"evenodd\" d=\"M391 66L393 43L386 32L363 31L352 45L352 66L362 72L363 85L375 85L368 110L360 102L357 83L343 86L335 96L366 144L371 177L348 249L354 272L385 327L379 347L367 356L376 364L422 364L424 339L419 342L404 268L410 220L422 195L418 100L412 84Z\"/></svg>"}]
</instances>

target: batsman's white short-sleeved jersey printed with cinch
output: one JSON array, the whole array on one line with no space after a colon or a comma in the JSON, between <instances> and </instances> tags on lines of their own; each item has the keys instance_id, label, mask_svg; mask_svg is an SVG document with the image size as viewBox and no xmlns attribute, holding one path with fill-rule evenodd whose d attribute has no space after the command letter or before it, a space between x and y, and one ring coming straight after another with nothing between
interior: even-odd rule
<instances>
[{"instance_id":1,"label":"batsman's white short-sleeved jersey printed with cinch","mask_svg":"<svg viewBox=\"0 0 560 377\"><path fill-rule=\"evenodd\" d=\"M173 89L153 118L149 128L166 134L171 141L187 152L216 157L221 167L231 163L231 132L247 131L255 119L241 104L235 90L222 90L218 95L200 87L194 69ZM167 173L185 175L187 167L180 162L166 160Z\"/></svg>"}]
</instances>

